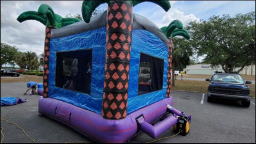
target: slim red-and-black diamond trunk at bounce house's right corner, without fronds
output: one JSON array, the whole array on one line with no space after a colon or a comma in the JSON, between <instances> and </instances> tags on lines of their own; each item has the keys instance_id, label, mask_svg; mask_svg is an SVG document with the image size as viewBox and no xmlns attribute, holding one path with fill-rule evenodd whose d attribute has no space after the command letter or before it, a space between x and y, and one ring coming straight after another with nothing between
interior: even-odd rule
<instances>
[{"instance_id":1,"label":"slim red-and-black diamond trunk at bounce house's right corner, without fronds","mask_svg":"<svg viewBox=\"0 0 256 144\"><path fill-rule=\"evenodd\" d=\"M170 88L171 88L171 81L172 81L172 39L169 39L169 54L168 54L168 67L167 67L167 91L166 97L170 97Z\"/></svg>"}]
</instances>

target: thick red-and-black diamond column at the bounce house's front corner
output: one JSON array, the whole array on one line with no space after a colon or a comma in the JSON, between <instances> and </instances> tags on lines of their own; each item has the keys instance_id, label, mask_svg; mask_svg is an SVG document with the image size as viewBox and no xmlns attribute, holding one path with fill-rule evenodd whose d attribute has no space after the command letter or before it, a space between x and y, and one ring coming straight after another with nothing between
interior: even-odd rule
<instances>
[{"instance_id":1,"label":"thick red-and-black diamond column at the bounce house's front corner","mask_svg":"<svg viewBox=\"0 0 256 144\"><path fill-rule=\"evenodd\" d=\"M129 1L111 2L108 5L106 21L106 65L102 116L107 119L122 119L127 115L132 5Z\"/></svg>"}]
</instances>

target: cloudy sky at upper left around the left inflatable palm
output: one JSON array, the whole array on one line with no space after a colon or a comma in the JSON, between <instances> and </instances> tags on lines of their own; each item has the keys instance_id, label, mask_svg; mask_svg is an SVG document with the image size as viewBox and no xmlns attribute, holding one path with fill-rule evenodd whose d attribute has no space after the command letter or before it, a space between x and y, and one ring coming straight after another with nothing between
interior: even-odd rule
<instances>
[{"instance_id":1,"label":"cloudy sky at upper left around the left inflatable palm","mask_svg":"<svg viewBox=\"0 0 256 144\"><path fill-rule=\"evenodd\" d=\"M38 21L28 20L19 23L18 15L25 11L37 11L41 4L49 4L55 13L81 13L82 1L1 1L1 42L13 45L19 51L43 53L45 26ZM78 9L79 7L79 9Z\"/></svg>"}]
</instances>

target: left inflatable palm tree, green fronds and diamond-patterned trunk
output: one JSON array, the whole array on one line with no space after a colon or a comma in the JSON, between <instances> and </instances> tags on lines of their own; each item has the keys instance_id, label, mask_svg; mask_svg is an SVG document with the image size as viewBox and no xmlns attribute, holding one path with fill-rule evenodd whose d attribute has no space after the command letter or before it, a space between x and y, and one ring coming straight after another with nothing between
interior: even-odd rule
<instances>
[{"instance_id":1,"label":"left inflatable palm tree, green fronds and diamond-patterned trunk","mask_svg":"<svg viewBox=\"0 0 256 144\"><path fill-rule=\"evenodd\" d=\"M44 43L44 89L43 96L48 97L48 81L49 81L49 54L50 54L50 33L52 29L62 28L71 25L79 20L78 18L62 18L55 14L54 10L47 4L42 4L38 12L27 11L20 14L17 20L22 23L26 20L36 20L46 26L46 39Z\"/></svg>"}]
</instances>

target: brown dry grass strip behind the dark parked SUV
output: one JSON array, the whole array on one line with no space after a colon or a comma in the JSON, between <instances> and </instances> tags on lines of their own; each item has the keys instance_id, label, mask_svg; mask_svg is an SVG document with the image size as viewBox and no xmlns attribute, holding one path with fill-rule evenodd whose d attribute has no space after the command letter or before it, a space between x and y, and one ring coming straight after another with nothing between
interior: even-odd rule
<instances>
[{"instance_id":1,"label":"brown dry grass strip behind the dark parked SUV","mask_svg":"<svg viewBox=\"0 0 256 144\"><path fill-rule=\"evenodd\" d=\"M199 93L207 93L208 81L192 81L192 80L175 80L175 86L171 89L174 91L197 91ZM255 97L255 85L249 85L252 97Z\"/></svg>"}]
</instances>

